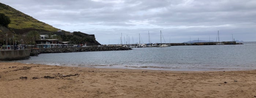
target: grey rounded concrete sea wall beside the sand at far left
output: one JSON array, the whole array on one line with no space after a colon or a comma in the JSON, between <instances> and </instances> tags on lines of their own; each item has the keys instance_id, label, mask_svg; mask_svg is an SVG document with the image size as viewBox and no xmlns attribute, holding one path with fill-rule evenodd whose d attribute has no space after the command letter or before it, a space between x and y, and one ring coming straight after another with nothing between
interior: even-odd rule
<instances>
[{"instance_id":1,"label":"grey rounded concrete sea wall beside the sand at far left","mask_svg":"<svg viewBox=\"0 0 256 98\"><path fill-rule=\"evenodd\" d=\"M0 61L29 59L31 49L24 50L1 50Z\"/></svg>"}]
</instances>

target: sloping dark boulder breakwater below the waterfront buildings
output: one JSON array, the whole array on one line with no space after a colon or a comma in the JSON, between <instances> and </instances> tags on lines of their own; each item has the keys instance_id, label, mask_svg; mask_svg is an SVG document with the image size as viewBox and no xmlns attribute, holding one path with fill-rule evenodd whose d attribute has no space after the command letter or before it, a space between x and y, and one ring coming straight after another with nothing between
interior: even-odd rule
<instances>
[{"instance_id":1,"label":"sloping dark boulder breakwater below the waterfront buildings","mask_svg":"<svg viewBox=\"0 0 256 98\"><path fill-rule=\"evenodd\" d=\"M41 53L67 53L67 52L90 52L90 51L112 51L131 50L129 47L76 47L76 48L47 48L32 49L30 56L38 56Z\"/></svg>"}]
</instances>

